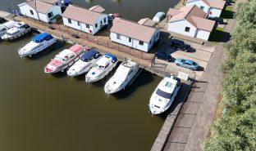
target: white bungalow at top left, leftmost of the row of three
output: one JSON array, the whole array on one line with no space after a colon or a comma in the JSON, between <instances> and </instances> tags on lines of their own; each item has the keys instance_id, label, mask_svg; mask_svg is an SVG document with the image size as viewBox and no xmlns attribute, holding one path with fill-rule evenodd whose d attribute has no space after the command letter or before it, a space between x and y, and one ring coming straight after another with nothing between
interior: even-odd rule
<instances>
[{"instance_id":1,"label":"white bungalow at top left, leftmost of the row of three","mask_svg":"<svg viewBox=\"0 0 256 151\"><path fill-rule=\"evenodd\" d=\"M62 15L61 6L60 0L28 0L18 5L23 16L47 23L56 21L55 16Z\"/></svg>"}]
</instances>

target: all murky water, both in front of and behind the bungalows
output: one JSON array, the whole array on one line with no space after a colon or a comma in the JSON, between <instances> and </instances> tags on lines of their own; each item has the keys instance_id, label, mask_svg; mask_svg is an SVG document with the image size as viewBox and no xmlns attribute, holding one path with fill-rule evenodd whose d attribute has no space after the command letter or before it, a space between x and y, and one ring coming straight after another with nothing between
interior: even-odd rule
<instances>
[{"instance_id":1,"label":"all murky water, both in front of and behind the bungalows","mask_svg":"<svg viewBox=\"0 0 256 151\"><path fill-rule=\"evenodd\" d=\"M11 2L16 5L21 0L2 2L0 9L7 10ZM92 3L137 20L166 7L162 2L167 1ZM136 12L139 6L144 6L143 14ZM32 59L20 58L17 48L32 37L0 41L0 151L147 151L152 147L164 118L152 116L148 104L161 78L143 72L125 91L105 95L106 80L85 84L85 75L43 73L43 66L70 45L58 42Z\"/></svg>"}]
</instances>

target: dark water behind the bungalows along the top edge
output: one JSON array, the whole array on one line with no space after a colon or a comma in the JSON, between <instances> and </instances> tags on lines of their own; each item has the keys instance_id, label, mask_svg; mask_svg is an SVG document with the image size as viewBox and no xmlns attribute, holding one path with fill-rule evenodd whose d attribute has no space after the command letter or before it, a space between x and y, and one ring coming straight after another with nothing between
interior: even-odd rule
<instances>
[{"instance_id":1,"label":"dark water behind the bungalows along the top edge","mask_svg":"<svg viewBox=\"0 0 256 151\"><path fill-rule=\"evenodd\" d=\"M8 11L8 7L17 9L16 5L21 2L25 0L1 0L0 10ZM153 19L158 11L167 12L180 0L72 0L72 2L85 8L101 5L106 9L106 13L118 12L123 18L138 21L145 17Z\"/></svg>"}]
</instances>

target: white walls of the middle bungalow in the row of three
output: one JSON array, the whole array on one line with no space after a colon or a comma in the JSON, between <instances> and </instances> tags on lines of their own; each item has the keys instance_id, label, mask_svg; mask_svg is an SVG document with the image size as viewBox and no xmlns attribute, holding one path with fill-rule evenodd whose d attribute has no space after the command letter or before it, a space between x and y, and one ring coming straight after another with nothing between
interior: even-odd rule
<instances>
[{"instance_id":1,"label":"white walls of the middle bungalow in the row of three","mask_svg":"<svg viewBox=\"0 0 256 151\"><path fill-rule=\"evenodd\" d=\"M106 18L106 22L104 22L104 18ZM102 24L100 24L100 21L102 21ZM97 28L95 27L96 23L98 24ZM96 20L96 22L94 24L89 24L89 29L86 28L85 23L80 22L80 25L78 25L77 20L71 20L71 24L70 24L66 17L63 17L63 24L65 24L66 26L69 26L73 29L81 30L85 33L95 34L98 32L99 29L101 29L101 25L108 24L108 21L107 21L107 15L102 14L101 16L98 17L98 19Z\"/></svg>"}]
</instances>

